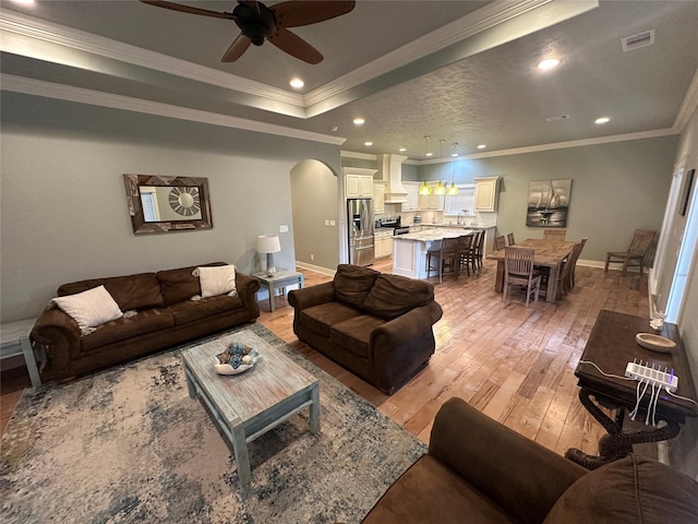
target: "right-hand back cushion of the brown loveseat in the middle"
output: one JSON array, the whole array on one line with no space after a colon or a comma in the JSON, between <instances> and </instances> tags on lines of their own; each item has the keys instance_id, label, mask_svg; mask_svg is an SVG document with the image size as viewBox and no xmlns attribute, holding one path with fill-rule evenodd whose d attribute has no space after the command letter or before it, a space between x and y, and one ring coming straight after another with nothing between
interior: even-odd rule
<instances>
[{"instance_id":1,"label":"right-hand back cushion of the brown loveseat in the middle","mask_svg":"<svg viewBox=\"0 0 698 524\"><path fill-rule=\"evenodd\" d=\"M400 275L381 275L363 301L362 309L390 320L434 300L434 286Z\"/></svg>"}]
</instances>

